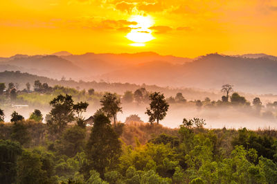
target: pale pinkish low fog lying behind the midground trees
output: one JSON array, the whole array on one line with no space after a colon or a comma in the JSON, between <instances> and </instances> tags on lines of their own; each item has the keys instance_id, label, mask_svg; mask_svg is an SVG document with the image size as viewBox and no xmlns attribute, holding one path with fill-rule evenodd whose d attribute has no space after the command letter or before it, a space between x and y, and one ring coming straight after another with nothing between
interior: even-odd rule
<instances>
[{"instance_id":1,"label":"pale pinkish low fog lying behind the midground trees","mask_svg":"<svg viewBox=\"0 0 277 184\"><path fill-rule=\"evenodd\" d=\"M147 104L123 104L123 113L118 113L118 121L125 122L127 116L137 114L143 120L148 122L148 116L145 114L145 109L148 107ZM99 106L90 106L87 112L84 113L85 118L89 118ZM17 111L19 114L28 118L30 113L33 112L32 108L21 108L21 109L4 109L6 113L6 122L10 121L10 114L12 111ZM40 109L45 117L51 109ZM235 128L239 129L247 127L248 129L264 129L264 128L277 128L276 111L272 110L272 113L267 113L262 110L258 113L251 107L213 107L197 109L196 107L186 107L182 104L170 104L167 116L164 120L161 120L161 125L171 128L177 128L183 122L183 118L203 118L206 120L206 128Z\"/></svg>"}]
</instances>

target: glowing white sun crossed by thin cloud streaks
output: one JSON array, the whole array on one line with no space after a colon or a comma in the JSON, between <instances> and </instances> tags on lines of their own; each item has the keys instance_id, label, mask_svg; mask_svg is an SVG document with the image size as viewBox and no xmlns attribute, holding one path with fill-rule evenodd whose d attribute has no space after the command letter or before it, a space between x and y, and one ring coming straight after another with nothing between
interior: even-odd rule
<instances>
[{"instance_id":1,"label":"glowing white sun crossed by thin cloud streaks","mask_svg":"<svg viewBox=\"0 0 277 184\"><path fill-rule=\"evenodd\" d=\"M133 15L128 21L135 21L136 25L130 25L132 30L126 35L127 39L133 41L131 46L145 46L146 42L154 39L150 27L154 25L154 21L150 16Z\"/></svg>"}]
</instances>

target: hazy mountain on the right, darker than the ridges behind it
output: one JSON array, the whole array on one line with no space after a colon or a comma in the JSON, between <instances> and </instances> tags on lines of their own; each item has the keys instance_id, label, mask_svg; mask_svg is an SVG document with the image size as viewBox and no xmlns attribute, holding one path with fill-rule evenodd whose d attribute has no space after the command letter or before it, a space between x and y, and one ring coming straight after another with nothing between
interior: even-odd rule
<instances>
[{"instance_id":1,"label":"hazy mountain on the right, darker than the ridges behind it","mask_svg":"<svg viewBox=\"0 0 277 184\"><path fill-rule=\"evenodd\" d=\"M191 86L220 89L222 84L235 85L249 93L277 93L277 62L259 57L244 58L211 54L194 62L171 64L149 62L101 75L110 82L135 82L160 86Z\"/></svg>"}]
</instances>

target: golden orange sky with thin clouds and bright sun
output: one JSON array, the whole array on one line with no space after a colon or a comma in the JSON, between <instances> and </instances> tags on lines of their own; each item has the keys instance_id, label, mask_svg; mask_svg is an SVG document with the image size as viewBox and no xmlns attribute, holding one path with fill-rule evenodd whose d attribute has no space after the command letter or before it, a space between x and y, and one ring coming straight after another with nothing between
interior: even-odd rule
<instances>
[{"instance_id":1,"label":"golden orange sky with thin clouds and bright sun","mask_svg":"<svg viewBox=\"0 0 277 184\"><path fill-rule=\"evenodd\" d=\"M277 55L276 0L9 0L0 57L15 54Z\"/></svg>"}]
</instances>

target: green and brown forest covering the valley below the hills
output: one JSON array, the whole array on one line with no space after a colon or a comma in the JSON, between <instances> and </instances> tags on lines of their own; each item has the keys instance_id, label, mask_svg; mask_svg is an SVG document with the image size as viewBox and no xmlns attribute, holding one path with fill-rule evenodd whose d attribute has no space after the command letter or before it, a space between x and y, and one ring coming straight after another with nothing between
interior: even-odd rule
<instances>
[{"instance_id":1,"label":"green and brown forest covering the valley below the hills","mask_svg":"<svg viewBox=\"0 0 277 184\"><path fill-rule=\"evenodd\" d=\"M230 84L222 86L221 100L190 102L181 93L166 98L137 89L121 96L39 80L31 92L30 83L23 91L12 82L0 86L1 104L42 101L50 107L28 118L0 109L0 183L277 183L275 129L208 129L198 117L184 117L175 129L160 124L176 103L275 111L276 102L248 102ZM84 118L93 100L99 108ZM118 121L123 102L146 104L148 122L137 114Z\"/></svg>"}]
</instances>

